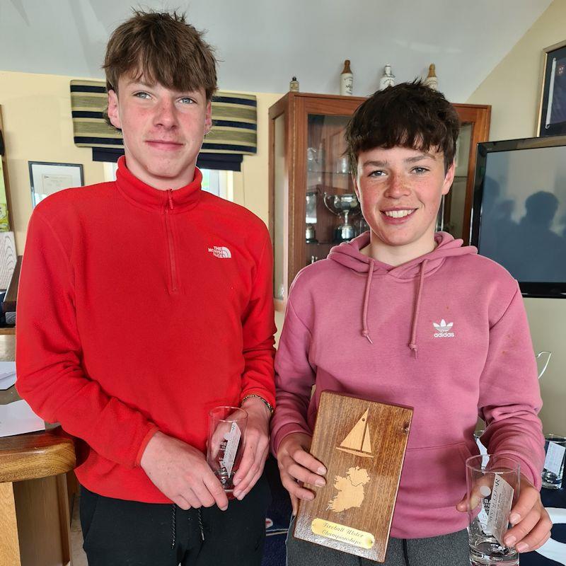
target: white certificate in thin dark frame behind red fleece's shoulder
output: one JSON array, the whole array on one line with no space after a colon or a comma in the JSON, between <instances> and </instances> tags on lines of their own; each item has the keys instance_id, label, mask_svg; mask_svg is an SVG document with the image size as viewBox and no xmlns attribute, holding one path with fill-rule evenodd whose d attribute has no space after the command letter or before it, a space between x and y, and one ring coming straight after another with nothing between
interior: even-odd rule
<instances>
[{"instance_id":1,"label":"white certificate in thin dark frame behind red fleece's shoulder","mask_svg":"<svg viewBox=\"0 0 566 566\"><path fill-rule=\"evenodd\" d=\"M84 185L80 163L46 163L28 161L33 206L54 192Z\"/></svg>"}]
</instances>

